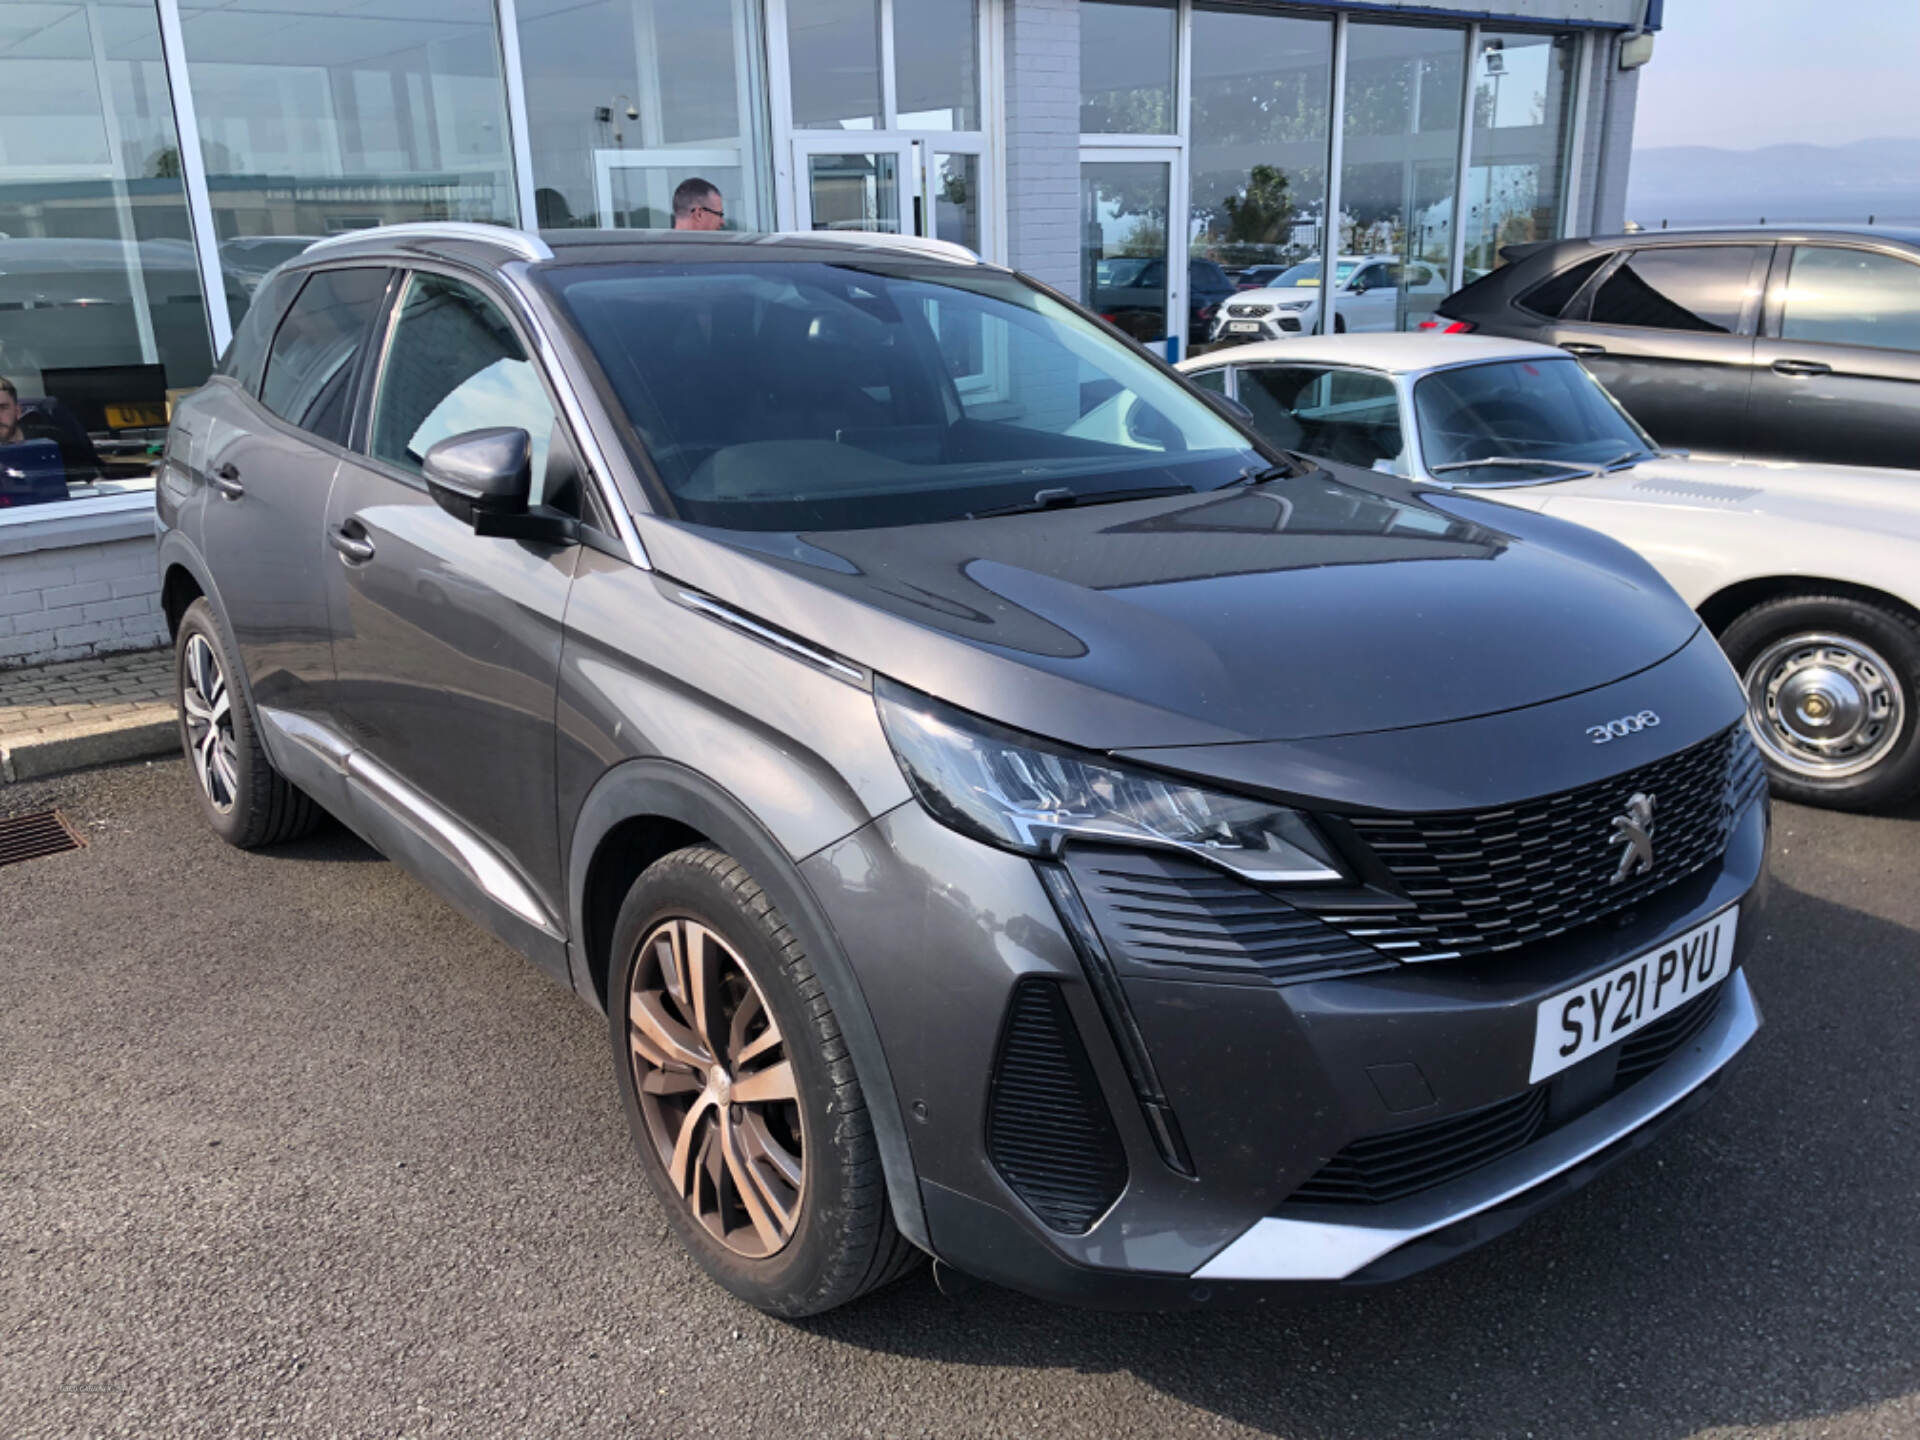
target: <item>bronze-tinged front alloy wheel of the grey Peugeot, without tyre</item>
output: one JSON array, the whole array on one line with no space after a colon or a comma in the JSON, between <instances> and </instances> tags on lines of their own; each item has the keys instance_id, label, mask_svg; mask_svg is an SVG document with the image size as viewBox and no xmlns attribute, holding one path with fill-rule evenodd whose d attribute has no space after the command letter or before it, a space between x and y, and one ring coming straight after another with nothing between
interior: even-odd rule
<instances>
[{"instance_id":1,"label":"bronze-tinged front alloy wheel of the grey Peugeot, without tyre","mask_svg":"<svg viewBox=\"0 0 1920 1440\"><path fill-rule=\"evenodd\" d=\"M778 1254L801 1223L804 1125L785 1037L741 958L682 916L639 943L628 1050L647 1139L728 1250Z\"/></svg>"}]
</instances>

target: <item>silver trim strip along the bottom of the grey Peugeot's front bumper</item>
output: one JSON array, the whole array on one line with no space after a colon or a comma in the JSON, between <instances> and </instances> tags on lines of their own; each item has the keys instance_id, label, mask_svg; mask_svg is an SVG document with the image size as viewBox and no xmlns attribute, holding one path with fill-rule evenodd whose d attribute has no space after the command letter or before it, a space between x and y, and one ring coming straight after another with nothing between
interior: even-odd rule
<instances>
[{"instance_id":1,"label":"silver trim strip along the bottom of the grey Peugeot's front bumper","mask_svg":"<svg viewBox=\"0 0 1920 1440\"><path fill-rule=\"evenodd\" d=\"M1761 1027L1747 972L1726 977L1720 1014L1665 1066L1524 1150L1361 1221L1267 1215L1194 1271L1196 1281L1344 1281L1390 1250L1505 1204L1672 1110L1718 1073Z\"/></svg>"}]
</instances>

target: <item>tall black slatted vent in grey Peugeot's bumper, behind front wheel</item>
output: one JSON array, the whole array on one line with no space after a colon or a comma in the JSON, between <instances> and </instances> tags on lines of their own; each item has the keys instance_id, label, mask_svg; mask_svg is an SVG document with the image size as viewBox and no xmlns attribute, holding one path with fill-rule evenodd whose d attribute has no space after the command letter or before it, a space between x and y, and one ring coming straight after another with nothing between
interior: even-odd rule
<instances>
[{"instance_id":1,"label":"tall black slatted vent in grey Peugeot's bumper, behind front wheel","mask_svg":"<svg viewBox=\"0 0 1920 1440\"><path fill-rule=\"evenodd\" d=\"M987 1154L1050 1229L1085 1235L1127 1188L1127 1154L1060 985L1014 987L1000 1035Z\"/></svg>"}]
</instances>

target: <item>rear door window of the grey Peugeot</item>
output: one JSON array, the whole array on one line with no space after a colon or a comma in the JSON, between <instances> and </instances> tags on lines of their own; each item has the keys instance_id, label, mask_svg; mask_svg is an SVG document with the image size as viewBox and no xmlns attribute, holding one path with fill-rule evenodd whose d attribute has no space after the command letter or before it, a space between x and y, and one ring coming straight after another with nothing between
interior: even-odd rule
<instances>
[{"instance_id":1,"label":"rear door window of the grey Peugeot","mask_svg":"<svg viewBox=\"0 0 1920 1440\"><path fill-rule=\"evenodd\" d=\"M261 403L290 424L336 445L353 409L355 361L386 296L384 267L307 276L267 351Z\"/></svg>"}]
</instances>

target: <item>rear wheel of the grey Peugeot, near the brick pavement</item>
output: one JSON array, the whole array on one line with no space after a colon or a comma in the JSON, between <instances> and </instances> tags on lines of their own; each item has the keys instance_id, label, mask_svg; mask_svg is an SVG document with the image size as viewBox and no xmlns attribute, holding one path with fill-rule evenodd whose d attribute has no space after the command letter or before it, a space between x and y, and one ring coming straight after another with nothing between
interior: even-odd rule
<instances>
[{"instance_id":1,"label":"rear wheel of the grey Peugeot, near the brick pavement","mask_svg":"<svg viewBox=\"0 0 1920 1440\"><path fill-rule=\"evenodd\" d=\"M194 793L213 833L252 851L305 835L321 812L267 760L246 689L236 684L240 664L213 618L213 607L196 599L186 607L173 641L180 749L194 766Z\"/></svg>"}]
</instances>

